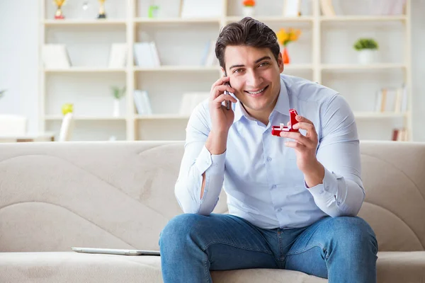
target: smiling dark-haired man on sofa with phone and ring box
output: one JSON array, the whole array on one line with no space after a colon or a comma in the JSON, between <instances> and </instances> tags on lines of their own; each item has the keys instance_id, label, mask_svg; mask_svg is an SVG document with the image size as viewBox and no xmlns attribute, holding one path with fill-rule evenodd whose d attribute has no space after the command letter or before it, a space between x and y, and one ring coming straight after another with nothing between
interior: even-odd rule
<instances>
[{"instance_id":1,"label":"smiling dark-haired man on sofa with phone and ring box","mask_svg":"<svg viewBox=\"0 0 425 283\"><path fill-rule=\"evenodd\" d=\"M223 28L215 53L227 76L188 122L175 187L185 214L159 240L164 282L212 282L210 270L246 268L376 282L378 244L356 216L365 192L344 98L280 74L276 34L252 18ZM290 108L300 132L271 135ZM223 181L229 214L211 214Z\"/></svg>"}]
</instances>

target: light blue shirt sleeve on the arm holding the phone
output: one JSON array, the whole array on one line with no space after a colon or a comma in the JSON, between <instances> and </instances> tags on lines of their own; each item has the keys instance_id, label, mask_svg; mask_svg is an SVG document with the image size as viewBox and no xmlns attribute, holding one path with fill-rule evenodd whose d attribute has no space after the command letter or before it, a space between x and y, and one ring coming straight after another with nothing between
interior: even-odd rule
<instances>
[{"instance_id":1,"label":"light blue shirt sleeve on the arm holding the phone","mask_svg":"<svg viewBox=\"0 0 425 283\"><path fill-rule=\"evenodd\" d=\"M215 208L222 190L226 153L210 154L205 147L209 133L210 117L205 101L193 110L188 121L179 178L174 188L176 199L184 213L209 215ZM205 187L201 198L203 173Z\"/></svg>"}]
</instances>

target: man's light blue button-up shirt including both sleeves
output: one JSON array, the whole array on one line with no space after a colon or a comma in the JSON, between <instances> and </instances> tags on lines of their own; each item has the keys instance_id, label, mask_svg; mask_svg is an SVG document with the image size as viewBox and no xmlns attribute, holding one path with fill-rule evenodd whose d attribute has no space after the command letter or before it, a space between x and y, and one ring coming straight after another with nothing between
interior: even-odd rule
<instances>
[{"instance_id":1,"label":"man's light blue button-up shirt including both sleeves","mask_svg":"<svg viewBox=\"0 0 425 283\"><path fill-rule=\"evenodd\" d=\"M188 121L175 187L183 212L210 214L223 188L229 214L263 229L309 226L327 215L356 216L365 197L359 141L353 112L339 93L281 74L268 125L250 117L239 101L232 108L234 122L220 155L205 148L211 129L208 100ZM295 150L285 146L288 139L271 135L272 125L289 121L290 108L312 121L318 134L317 160L325 173L322 184L314 187L305 185Z\"/></svg>"}]
</instances>

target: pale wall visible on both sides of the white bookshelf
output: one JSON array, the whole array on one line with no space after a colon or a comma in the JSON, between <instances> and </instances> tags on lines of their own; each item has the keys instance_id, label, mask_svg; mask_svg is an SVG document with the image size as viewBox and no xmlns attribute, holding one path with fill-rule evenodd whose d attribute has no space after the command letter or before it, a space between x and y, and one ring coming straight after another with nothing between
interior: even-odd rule
<instances>
[{"instance_id":1,"label":"pale wall visible on both sides of the white bookshelf","mask_svg":"<svg viewBox=\"0 0 425 283\"><path fill-rule=\"evenodd\" d=\"M425 141L425 0L412 0L414 141ZM38 130L38 1L0 1L0 113L26 115ZM397 40L395 38L394 40Z\"/></svg>"}]
</instances>

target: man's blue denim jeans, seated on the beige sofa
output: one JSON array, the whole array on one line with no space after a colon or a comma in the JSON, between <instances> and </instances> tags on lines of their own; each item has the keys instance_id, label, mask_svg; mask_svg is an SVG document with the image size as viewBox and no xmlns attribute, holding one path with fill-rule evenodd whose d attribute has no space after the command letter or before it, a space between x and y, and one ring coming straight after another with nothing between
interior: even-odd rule
<instances>
[{"instance_id":1,"label":"man's blue denim jeans, seated on the beige sofa","mask_svg":"<svg viewBox=\"0 0 425 283\"><path fill-rule=\"evenodd\" d=\"M181 214L159 238L165 283L212 282L210 270L297 270L329 283L376 282L378 243L359 217L299 229L260 229L229 214Z\"/></svg>"}]
</instances>

